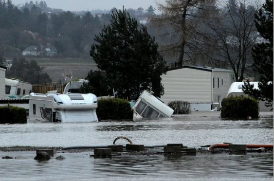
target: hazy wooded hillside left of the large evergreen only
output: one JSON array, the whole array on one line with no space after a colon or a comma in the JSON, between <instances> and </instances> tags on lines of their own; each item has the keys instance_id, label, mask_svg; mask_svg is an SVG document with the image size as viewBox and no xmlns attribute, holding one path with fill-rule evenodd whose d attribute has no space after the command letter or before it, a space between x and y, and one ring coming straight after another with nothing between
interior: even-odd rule
<instances>
[{"instance_id":1,"label":"hazy wooded hillside left of the large evergreen only","mask_svg":"<svg viewBox=\"0 0 274 181\"><path fill-rule=\"evenodd\" d=\"M43 1L18 8L11 0L0 0L0 55L14 57L29 46L46 44L54 45L59 56L88 54L94 35L110 21L110 14L50 10Z\"/></svg>"}]
</instances>

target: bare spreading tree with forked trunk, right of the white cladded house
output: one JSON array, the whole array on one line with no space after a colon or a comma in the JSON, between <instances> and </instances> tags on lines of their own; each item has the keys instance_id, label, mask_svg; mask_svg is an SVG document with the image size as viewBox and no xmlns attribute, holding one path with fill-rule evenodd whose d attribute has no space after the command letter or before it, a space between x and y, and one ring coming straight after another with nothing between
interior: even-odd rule
<instances>
[{"instance_id":1,"label":"bare spreading tree with forked trunk, right of the white cladded house","mask_svg":"<svg viewBox=\"0 0 274 181\"><path fill-rule=\"evenodd\" d=\"M251 48L259 40L254 15L260 5L248 0L227 0L224 4L219 17L208 23L212 30L208 36L217 42L214 46L219 52L214 58L227 62L236 81L242 81L245 70L252 66Z\"/></svg>"}]
</instances>

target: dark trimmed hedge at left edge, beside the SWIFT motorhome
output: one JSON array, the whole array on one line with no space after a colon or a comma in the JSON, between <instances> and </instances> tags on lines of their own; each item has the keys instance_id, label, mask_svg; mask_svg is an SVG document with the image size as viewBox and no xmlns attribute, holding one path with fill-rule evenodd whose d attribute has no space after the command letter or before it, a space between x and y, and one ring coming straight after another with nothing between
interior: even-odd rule
<instances>
[{"instance_id":1,"label":"dark trimmed hedge at left edge, beside the SWIFT motorhome","mask_svg":"<svg viewBox=\"0 0 274 181\"><path fill-rule=\"evenodd\" d=\"M27 111L14 106L0 106L0 124L27 123Z\"/></svg>"}]
</instances>

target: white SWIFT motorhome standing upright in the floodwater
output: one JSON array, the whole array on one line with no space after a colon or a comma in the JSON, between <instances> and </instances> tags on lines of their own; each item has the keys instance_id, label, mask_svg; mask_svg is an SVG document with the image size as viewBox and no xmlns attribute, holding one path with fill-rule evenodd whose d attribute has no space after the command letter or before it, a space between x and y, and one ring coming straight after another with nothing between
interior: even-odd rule
<instances>
[{"instance_id":1,"label":"white SWIFT motorhome standing upright in the floodwater","mask_svg":"<svg viewBox=\"0 0 274 181\"><path fill-rule=\"evenodd\" d=\"M29 96L29 121L93 122L98 121L94 94L40 94Z\"/></svg>"}]
</instances>

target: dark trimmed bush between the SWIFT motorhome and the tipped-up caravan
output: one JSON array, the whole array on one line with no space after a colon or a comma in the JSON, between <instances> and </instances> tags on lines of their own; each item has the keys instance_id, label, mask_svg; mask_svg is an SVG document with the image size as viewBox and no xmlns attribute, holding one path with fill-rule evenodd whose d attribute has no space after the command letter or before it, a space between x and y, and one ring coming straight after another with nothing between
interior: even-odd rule
<instances>
[{"instance_id":1,"label":"dark trimmed bush between the SWIFT motorhome and the tipped-up caravan","mask_svg":"<svg viewBox=\"0 0 274 181\"><path fill-rule=\"evenodd\" d=\"M118 98L99 99L96 114L99 120L133 119L133 111L128 101Z\"/></svg>"}]
</instances>

